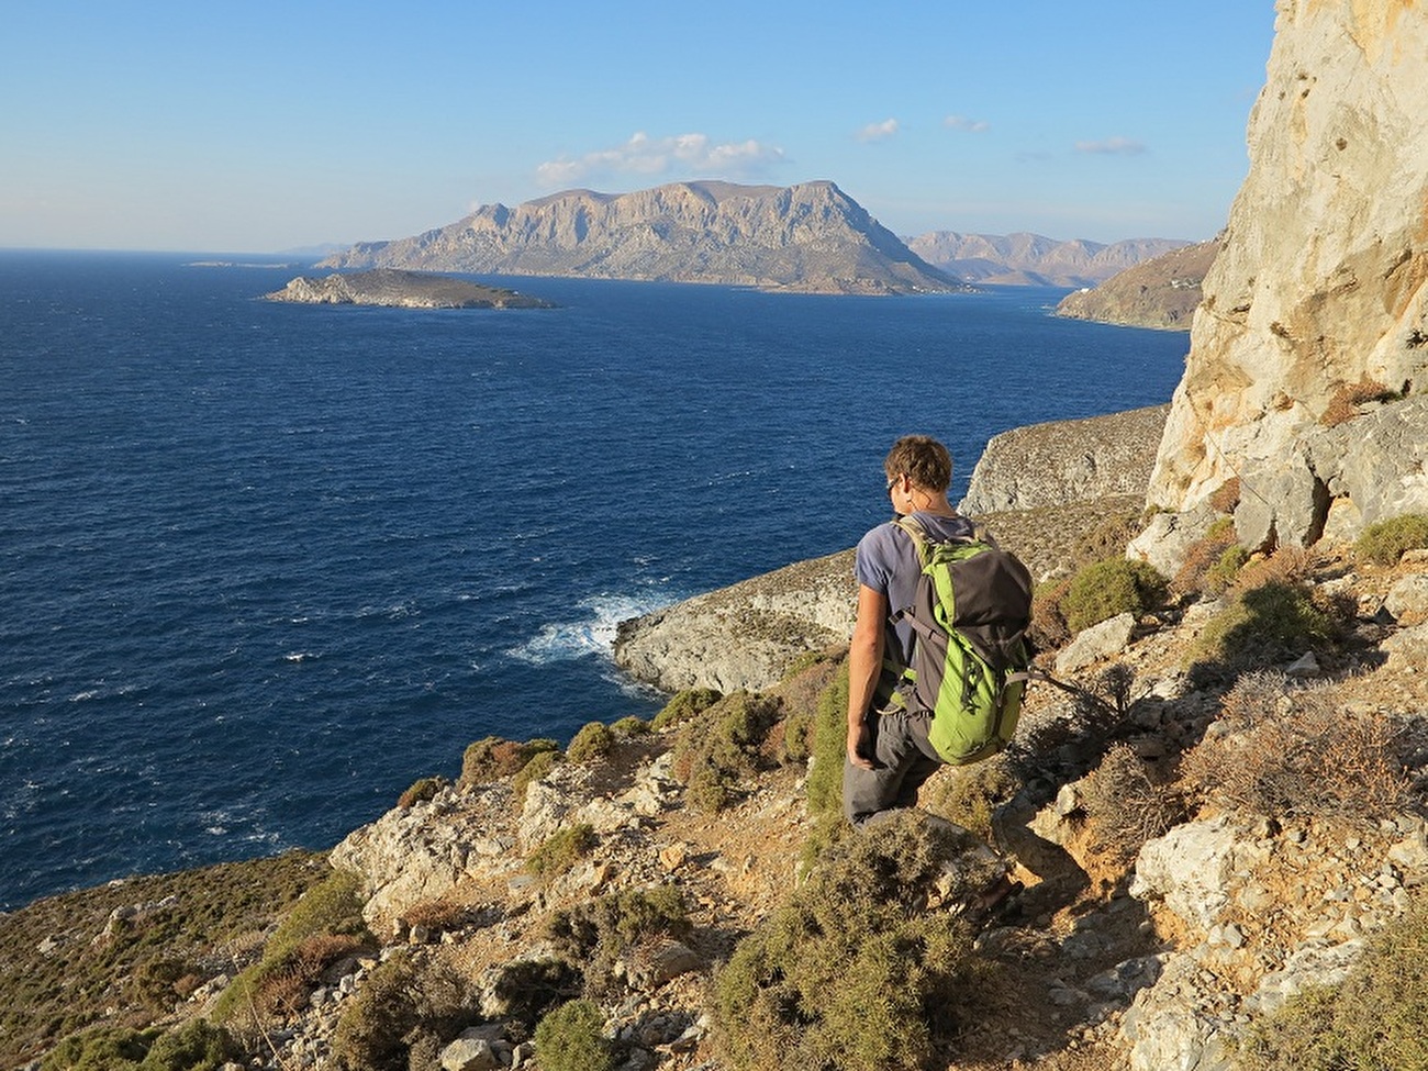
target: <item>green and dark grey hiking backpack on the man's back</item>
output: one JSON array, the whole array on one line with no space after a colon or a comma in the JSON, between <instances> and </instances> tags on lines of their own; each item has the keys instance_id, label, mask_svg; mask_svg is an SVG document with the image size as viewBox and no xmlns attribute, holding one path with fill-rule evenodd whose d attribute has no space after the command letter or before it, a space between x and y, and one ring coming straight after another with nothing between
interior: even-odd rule
<instances>
[{"instance_id":1,"label":"green and dark grey hiking backpack on the man's back","mask_svg":"<svg viewBox=\"0 0 1428 1071\"><path fill-rule=\"evenodd\" d=\"M894 524L912 538L922 575L912 605L892 613L915 637L892 701L931 711L928 737L945 763L978 763L1007 747L1021 717L1031 574L977 536L935 543L911 517Z\"/></svg>"}]
</instances>

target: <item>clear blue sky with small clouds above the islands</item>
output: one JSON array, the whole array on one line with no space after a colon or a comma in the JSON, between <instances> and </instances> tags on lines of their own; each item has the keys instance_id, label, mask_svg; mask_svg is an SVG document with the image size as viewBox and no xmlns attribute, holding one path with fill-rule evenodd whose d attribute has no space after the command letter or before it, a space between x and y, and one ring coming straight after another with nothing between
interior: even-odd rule
<instances>
[{"instance_id":1,"label":"clear blue sky with small clouds above the islands","mask_svg":"<svg viewBox=\"0 0 1428 1071\"><path fill-rule=\"evenodd\" d=\"M898 234L1211 237L1272 0L7 0L0 247L276 251L830 178Z\"/></svg>"}]
</instances>

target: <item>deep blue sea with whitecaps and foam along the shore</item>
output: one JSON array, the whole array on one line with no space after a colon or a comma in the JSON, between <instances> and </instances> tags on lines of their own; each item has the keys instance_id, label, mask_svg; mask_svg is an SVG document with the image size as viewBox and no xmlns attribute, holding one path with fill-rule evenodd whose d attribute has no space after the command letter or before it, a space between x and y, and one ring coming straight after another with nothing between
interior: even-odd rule
<instances>
[{"instance_id":1,"label":"deep blue sea with whitecaps and foam along the shore","mask_svg":"<svg viewBox=\"0 0 1428 1071\"><path fill-rule=\"evenodd\" d=\"M1165 401L1188 348L1055 290L410 311L198 260L0 253L3 907L326 848L473 740L648 717L621 618L851 545L898 434L960 496L990 436Z\"/></svg>"}]
</instances>

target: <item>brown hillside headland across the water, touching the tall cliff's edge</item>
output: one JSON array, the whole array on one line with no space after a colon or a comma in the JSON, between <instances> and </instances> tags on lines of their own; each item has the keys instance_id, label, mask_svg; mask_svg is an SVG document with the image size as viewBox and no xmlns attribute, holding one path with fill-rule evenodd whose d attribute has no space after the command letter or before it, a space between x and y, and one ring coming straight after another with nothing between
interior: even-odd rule
<instances>
[{"instance_id":1,"label":"brown hillside headland across the water, touching the tall cliff's edge","mask_svg":"<svg viewBox=\"0 0 1428 1071\"><path fill-rule=\"evenodd\" d=\"M1092 290L1067 294L1057 316L1125 327L1188 331L1200 306L1201 283L1220 253L1220 238L1162 253L1130 267Z\"/></svg>"}]
</instances>

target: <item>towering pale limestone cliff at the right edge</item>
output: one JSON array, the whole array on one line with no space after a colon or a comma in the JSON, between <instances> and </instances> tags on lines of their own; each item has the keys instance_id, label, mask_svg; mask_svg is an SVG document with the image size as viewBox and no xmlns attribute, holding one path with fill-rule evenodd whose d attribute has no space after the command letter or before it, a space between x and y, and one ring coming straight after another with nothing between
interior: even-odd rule
<instances>
[{"instance_id":1,"label":"towering pale limestone cliff at the right edge","mask_svg":"<svg viewBox=\"0 0 1428 1071\"><path fill-rule=\"evenodd\" d=\"M1148 493L1238 476L1248 547L1428 511L1428 7L1281 0L1275 29Z\"/></svg>"}]
</instances>

